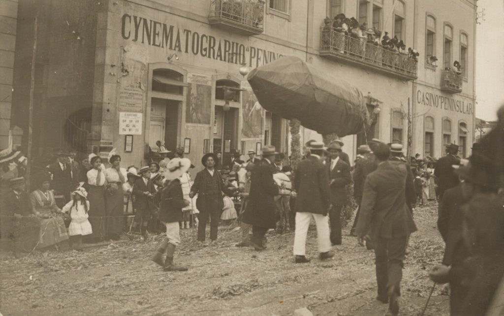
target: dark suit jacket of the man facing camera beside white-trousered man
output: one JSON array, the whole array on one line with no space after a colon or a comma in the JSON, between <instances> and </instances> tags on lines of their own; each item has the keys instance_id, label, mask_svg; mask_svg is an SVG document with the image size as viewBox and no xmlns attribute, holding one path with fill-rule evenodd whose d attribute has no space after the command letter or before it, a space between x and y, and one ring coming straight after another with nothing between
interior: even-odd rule
<instances>
[{"instance_id":1,"label":"dark suit jacket of the man facing camera beside white-trousered man","mask_svg":"<svg viewBox=\"0 0 504 316\"><path fill-rule=\"evenodd\" d=\"M329 181L334 179L331 187L331 202L333 205L344 205L347 200L346 186L352 182L350 166L341 159L338 160L334 169L331 170L331 159L326 162L326 171L329 172Z\"/></svg>"}]
</instances>

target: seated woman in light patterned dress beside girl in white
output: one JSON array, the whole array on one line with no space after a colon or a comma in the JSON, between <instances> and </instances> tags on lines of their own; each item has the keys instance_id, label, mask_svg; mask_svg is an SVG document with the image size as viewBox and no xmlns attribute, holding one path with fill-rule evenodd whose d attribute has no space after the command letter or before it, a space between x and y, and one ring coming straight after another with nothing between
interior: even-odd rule
<instances>
[{"instance_id":1,"label":"seated woman in light patterned dress beside girl in white","mask_svg":"<svg viewBox=\"0 0 504 316\"><path fill-rule=\"evenodd\" d=\"M46 248L68 240L65 221L61 217L61 210L56 206L54 194L50 188L51 174L41 172L35 177L36 189L30 193L32 213L40 223L37 248Z\"/></svg>"}]
</instances>

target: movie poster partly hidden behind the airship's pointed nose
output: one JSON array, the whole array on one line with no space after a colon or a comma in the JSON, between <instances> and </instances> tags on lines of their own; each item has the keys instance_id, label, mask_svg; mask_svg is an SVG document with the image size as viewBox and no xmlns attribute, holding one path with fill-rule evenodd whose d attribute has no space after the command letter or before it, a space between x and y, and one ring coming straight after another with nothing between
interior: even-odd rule
<instances>
[{"instance_id":1,"label":"movie poster partly hidden behind the airship's pointed nose","mask_svg":"<svg viewBox=\"0 0 504 316\"><path fill-rule=\"evenodd\" d=\"M248 82L247 82L248 83ZM243 123L242 138L261 138L263 134L263 122L265 111L259 104L254 91L248 84L243 84L245 91L243 98Z\"/></svg>"}]
</instances>

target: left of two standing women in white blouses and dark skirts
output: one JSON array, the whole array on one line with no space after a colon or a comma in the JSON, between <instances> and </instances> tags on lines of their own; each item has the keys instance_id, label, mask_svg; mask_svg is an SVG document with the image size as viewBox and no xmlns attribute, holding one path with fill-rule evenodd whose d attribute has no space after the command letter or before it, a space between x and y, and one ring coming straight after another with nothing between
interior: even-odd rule
<instances>
[{"instance_id":1,"label":"left of two standing women in white blouses and dark skirts","mask_svg":"<svg viewBox=\"0 0 504 316\"><path fill-rule=\"evenodd\" d=\"M91 154L90 156L92 156ZM88 171L88 200L89 200L89 222L93 228L93 234L89 235L93 241L100 241L105 238L105 168L101 164L101 158L94 155L90 159L93 166Z\"/></svg>"}]
</instances>

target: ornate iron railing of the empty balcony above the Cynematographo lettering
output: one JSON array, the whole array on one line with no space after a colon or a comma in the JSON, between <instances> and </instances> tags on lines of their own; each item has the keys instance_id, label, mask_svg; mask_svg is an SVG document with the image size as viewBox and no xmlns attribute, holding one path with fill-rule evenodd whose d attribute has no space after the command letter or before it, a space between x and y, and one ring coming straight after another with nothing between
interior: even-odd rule
<instances>
[{"instance_id":1,"label":"ornate iron railing of the empty balcony above the Cynematographo lettering","mask_svg":"<svg viewBox=\"0 0 504 316\"><path fill-rule=\"evenodd\" d=\"M263 32L264 5L262 0L212 0L209 18L220 18Z\"/></svg>"}]
</instances>

